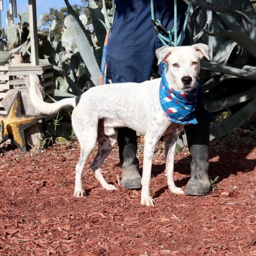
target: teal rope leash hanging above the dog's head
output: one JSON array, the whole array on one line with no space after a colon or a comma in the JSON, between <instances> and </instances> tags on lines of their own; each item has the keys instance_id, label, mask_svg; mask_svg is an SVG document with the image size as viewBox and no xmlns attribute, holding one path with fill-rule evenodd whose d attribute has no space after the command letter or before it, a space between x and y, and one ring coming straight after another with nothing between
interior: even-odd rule
<instances>
[{"instance_id":1,"label":"teal rope leash hanging above the dog's head","mask_svg":"<svg viewBox=\"0 0 256 256\"><path fill-rule=\"evenodd\" d=\"M153 27L154 27L155 33L157 34L158 38L163 43L163 45L165 45L165 46L167 46L167 45L178 46L179 45L180 40L186 31L190 7L191 7L191 0L188 1L188 9L186 11L185 22L182 27L181 33L178 36L177 0L174 0L174 26L173 26L172 30L167 30L161 23L161 20L155 19L154 0L151 0L151 18L152 18L152 22L153 22ZM164 34L166 34L167 36L165 36ZM174 35L174 41L172 39L172 35Z\"/></svg>"}]
</instances>

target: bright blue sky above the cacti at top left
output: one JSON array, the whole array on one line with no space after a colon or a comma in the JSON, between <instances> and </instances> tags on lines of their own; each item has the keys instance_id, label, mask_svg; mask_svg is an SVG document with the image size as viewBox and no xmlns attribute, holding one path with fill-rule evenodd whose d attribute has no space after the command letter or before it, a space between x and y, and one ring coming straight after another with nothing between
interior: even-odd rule
<instances>
[{"instance_id":1,"label":"bright blue sky above the cacti at top left","mask_svg":"<svg viewBox=\"0 0 256 256\"><path fill-rule=\"evenodd\" d=\"M71 5L73 4L81 4L80 0L69 0L69 3ZM9 0L3 0L4 4L4 10L1 11L1 22L2 27L6 27L5 23L5 15L6 10L9 9ZM66 6L64 0L36 0L36 14L37 14L37 20L39 14L42 12L47 13L49 12L50 8L60 9L60 7ZM17 0L17 12L18 14L21 14L23 12L28 12L28 0ZM18 20L15 20L16 23Z\"/></svg>"}]
</instances>

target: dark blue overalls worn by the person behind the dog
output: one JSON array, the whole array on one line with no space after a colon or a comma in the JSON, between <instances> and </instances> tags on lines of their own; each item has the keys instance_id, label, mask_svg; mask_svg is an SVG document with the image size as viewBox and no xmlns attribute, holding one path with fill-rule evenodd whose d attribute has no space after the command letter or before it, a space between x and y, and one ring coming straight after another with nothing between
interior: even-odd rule
<instances>
[{"instance_id":1,"label":"dark blue overalls worn by the person behind the dog","mask_svg":"<svg viewBox=\"0 0 256 256\"><path fill-rule=\"evenodd\" d=\"M157 67L155 51L163 44L154 31L151 21L150 0L115 0L116 11L108 41L107 71L113 83L141 83L150 79L153 69L161 76L163 67ZM183 26L187 4L177 1L178 27ZM161 20L169 30L174 25L174 2L155 0L155 19ZM180 29L178 30L178 35ZM188 35L183 35L180 45L189 45ZM198 92L196 116L213 121L204 107L203 93Z\"/></svg>"}]
</instances>

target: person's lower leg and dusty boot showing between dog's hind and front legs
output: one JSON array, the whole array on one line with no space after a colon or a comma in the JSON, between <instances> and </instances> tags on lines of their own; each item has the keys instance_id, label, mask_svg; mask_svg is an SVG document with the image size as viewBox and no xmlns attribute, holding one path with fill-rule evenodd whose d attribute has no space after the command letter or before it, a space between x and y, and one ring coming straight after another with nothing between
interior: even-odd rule
<instances>
[{"instance_id":1,"label":"person's lower leg and dusty boot showing between dog's hind and front legs","mask_svg":"<svg viewBox=\"0 0 256 256\"><path fill-rule=\"evenodd\" d=\"M125 189L141 188L139 161L136 157L137 133L129 128L118 129L120 164L123 170L121 186Z\"/></svg>"}]
</instances>

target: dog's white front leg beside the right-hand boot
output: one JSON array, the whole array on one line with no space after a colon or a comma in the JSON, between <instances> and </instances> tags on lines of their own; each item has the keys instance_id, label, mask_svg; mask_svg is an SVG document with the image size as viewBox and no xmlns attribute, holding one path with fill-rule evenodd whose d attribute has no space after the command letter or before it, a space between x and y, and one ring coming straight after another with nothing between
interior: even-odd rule
<instances>
[{"instance_id":1,"label":"dog's white front leg beside the right-hand boot","mask_svg":"<svg viewBox=\"0 0 256 256\"><path fill-rule=\"evenodd\" d=\"M173 179L174 171L174 154L175 147L177 144L177 139L179 136L179 131L173 131L173 133L164 135L164 148L165 148L165 172L167 176L167 185L169 190L174 194L183 195L185 194L182 188L176 187Z\"/></svg>"}]
</instances>

